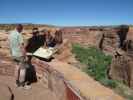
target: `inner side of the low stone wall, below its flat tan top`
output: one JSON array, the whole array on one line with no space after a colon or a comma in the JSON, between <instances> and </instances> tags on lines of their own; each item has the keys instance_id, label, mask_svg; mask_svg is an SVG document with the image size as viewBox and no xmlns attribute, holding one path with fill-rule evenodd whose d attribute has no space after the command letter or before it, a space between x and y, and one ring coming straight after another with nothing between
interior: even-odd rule
<instances>
[{"instance_id":1,"label":"inner side of the low stone wall, below its flat tan top","mask_svg":"<svg viewBox=\"0 0 133 100\"><path fill-rule=\"evenodd\" d=\"M40 60L33 61L37 76L54 92L59 100L83 100L83 98L64 79L61 72L53 69L48 63Z\"/></svg>"}]
</instances>

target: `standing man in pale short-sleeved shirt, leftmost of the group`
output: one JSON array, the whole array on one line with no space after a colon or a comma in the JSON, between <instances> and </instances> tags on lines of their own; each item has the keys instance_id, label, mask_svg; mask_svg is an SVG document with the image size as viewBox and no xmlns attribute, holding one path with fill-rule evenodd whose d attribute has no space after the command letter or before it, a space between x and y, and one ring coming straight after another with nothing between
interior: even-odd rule
<instances>
[{"instance_id":1,"label":"standing man in pale short-sleeved shirt, leftmost of the group","mask_svg":"<svg viewBox=\"0 0 133 100\"><path fill-rule=\"evenodd\" d=\"M26 64L25 64L25 48L24 41L22 37L23 26L21 24L17 25L16 29L12 31L9 35L9 44L12 58L17 62L15 77L17 86L25 85L25 73L26 73Z\"/></svg>"}]
</instances>

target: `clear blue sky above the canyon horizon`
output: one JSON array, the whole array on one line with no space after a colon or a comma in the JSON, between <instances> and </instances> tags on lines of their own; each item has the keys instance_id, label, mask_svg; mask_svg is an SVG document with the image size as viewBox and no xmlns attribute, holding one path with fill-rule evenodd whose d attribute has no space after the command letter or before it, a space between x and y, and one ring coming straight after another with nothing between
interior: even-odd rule
<instances>
[{"instance_id":1,"label":"clear blue sky above the canyon horizon","mask_svg":"<svg viewBox=\"0 0 133 100\"><path fill-rule=\"evenodd\" d=\"M0 0L0 23L133 24L133 0Z\"/></svg>"}]
</instances>

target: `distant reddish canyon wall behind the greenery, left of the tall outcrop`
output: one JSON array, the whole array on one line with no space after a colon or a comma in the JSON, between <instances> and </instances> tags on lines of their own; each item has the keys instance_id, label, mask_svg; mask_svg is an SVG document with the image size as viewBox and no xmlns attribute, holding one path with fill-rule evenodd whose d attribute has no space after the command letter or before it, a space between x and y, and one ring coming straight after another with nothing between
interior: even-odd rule
<instances>
[{"instance_id":1,"label":"distant reddish canyon wall behind the greenery, left of the tall outcrop","mask_svg":"<svg viewBox=\"0 0 133 100\"><path fill-rule=\"evenodd\" d=\"M99 41L102 37L101 31L90 31L90 30L82 30L71 33L63 34L64 38L67 38L71 43L79 43L84 46L96 46L98 47Z\"/></svg>"}]
</instances>

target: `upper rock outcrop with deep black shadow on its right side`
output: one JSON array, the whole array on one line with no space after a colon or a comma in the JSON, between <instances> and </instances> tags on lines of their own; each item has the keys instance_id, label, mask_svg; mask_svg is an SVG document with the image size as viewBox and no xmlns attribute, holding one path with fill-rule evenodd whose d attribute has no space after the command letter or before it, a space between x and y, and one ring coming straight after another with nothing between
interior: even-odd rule
<instances>
[{"instance_id":1,"label":"upper rock outcrop with deep black shadow on its right side","mask_svg":"<svg viewBox=\"0 0 133 100\"><path fill-rule=\"evenodd\" d=\"M126 25L104 31L99 48L105 53L113 55L117 48L125 48L128 33L129 27Z\"/></svg>"}]
</instances>

